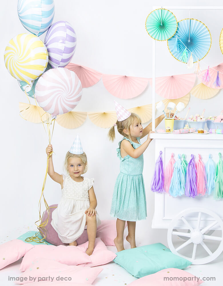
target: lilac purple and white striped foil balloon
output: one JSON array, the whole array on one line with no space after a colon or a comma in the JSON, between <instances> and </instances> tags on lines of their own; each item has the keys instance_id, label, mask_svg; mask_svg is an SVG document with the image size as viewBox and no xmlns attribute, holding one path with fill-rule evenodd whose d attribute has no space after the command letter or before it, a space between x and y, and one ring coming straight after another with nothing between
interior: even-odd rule
<instances>
[{"instance_id":1,"label":"lilac purple and white striped foil balloon","mask_svg":"<svg viewBox=\"0 0 223 286\"><path fill-rule=\"evenodd\" d=\"M65 67L72 59L76 48L76 34L66 21L58 21L47 30L44 43L52 67Z\"/></svg>"}]
</instances>

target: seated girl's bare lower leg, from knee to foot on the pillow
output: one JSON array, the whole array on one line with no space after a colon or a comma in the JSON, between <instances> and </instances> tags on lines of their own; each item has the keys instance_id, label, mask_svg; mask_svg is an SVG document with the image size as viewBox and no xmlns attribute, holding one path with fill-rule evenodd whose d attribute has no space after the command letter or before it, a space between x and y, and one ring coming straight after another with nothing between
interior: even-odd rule
<instances>
[{"instance_id":1,"label":"seated girl's bare lower leg, from knee to foot on the pillow","mask_svg":"<svg viewBox=\"0 0 223 286\"><path fill-rule=\"evenodd\" d=\"M86 222L87 222L87 236L88 236L88 248L86 250L86 253L88 255L91 255L94 250L94 243L97 232L96 216L95 215L89 216L86 214Z\"/></svg>"}]
</instances>

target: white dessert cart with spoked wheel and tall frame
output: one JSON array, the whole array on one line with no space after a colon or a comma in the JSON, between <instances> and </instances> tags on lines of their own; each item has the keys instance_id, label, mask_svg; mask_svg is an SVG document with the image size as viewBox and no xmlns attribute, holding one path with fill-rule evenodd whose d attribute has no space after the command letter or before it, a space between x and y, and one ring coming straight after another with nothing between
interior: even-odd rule
<instances>
[{"instance_id":1,"label":"white dessert cart with spoked wheel and tall frame","mask_svg":"<svg viewBox=\"0 0 223 286\"><path fill-rule=\"evenodd\" d=\"M153 7L153 10L162 7ZM223 9L223 7L163 7L165 9ZM152 75L152 130L155 131L155 67L156 40L153 41L153 75ZM170 160L171 153L185 154L189 162L191 154L198 160L201 154L207 162L212 154L218 162L218 153L223 155L223 135L220 134L151 134L155 139L155 158L160 151L164 167ZM156 160L155 159L155 160ZM155 211L152 228L168 229L168 246L172 253L182 256L193 264L204 264L214 260L223 251L223 199L214 200L213 195L189 198L171 197L167 193L155 193ZM204 254L205 253L205 254Z\"/></svg>"}]
</instances>

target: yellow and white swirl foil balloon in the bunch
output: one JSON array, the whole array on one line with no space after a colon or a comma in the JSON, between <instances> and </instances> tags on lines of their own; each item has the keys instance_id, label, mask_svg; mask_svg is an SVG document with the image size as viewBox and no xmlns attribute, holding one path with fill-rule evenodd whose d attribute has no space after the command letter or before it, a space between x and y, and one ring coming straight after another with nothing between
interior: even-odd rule
<instances>
[{"instance_id":1,"label":"yellow and white swirl foil balloon in the bunch","mask_svg":"<svg viewBox=\"0 0 223 286\"><path fill-rule=\"evenodd\" d=\"M35 35L23 33L12 38L4 53L5 66L17 80L31 84L44 73L48 52L44 43Z\"/></svg>"}]
</instances>

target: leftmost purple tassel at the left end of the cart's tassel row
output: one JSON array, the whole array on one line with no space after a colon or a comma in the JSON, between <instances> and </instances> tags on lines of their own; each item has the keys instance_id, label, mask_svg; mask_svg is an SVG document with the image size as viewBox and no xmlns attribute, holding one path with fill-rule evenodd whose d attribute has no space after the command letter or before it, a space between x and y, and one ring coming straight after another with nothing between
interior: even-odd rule
<instances>
[{"instance_id":1,"label":"leftmost purple tassel at the left end of the cart's tassel row","mask_svg":"<svg viewBox=\"0 0 223 286\"><path fill-rule=\"evenodd\" d=\"M155 170L151 182L152 192L162 193L164 191L164 170L163 170L163 160L162 151L160 151L160 156L156 160Z\"/></svg>"}]
</instances>

